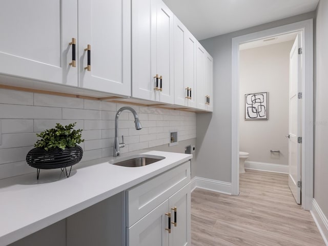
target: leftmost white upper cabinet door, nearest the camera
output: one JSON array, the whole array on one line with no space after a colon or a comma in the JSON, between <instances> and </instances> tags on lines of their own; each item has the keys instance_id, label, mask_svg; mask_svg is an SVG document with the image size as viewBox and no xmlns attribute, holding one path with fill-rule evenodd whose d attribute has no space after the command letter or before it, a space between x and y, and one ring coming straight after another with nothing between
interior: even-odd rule
<instances>
[{"instance_id":1,"label":"leftmost white upper cabinet door, nearest the camera","mask_svg":"<svg viewBox=\"0 0 328 246\"><path fill-rule=\"evenodd\" d=\"M77 86L77 1L11 0L0 8L0 73Z\"/></svg>"}]
</instances>

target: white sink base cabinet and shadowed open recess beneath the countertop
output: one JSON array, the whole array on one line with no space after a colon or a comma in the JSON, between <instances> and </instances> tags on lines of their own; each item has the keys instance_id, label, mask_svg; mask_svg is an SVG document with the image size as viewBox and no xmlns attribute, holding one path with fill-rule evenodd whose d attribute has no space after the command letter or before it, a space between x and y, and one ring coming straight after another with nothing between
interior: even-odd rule
<instances>
[{"instance_id":1,"label":"white sink base cabinet and shadowed open recess beneath the countertop","mask_svg":"<svg viewBox=\"0 0 328 246\"><path fill-rule=\"evenodd\" d=\"M190 246L190 197L187 161L10 246Z\"/></svg>"}]
</instances>

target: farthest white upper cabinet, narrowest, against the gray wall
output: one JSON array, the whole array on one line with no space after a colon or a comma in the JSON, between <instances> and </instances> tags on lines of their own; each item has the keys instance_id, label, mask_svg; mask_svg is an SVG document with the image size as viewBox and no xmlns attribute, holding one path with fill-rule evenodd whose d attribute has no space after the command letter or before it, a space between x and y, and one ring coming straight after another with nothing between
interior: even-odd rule
<instances>
[{"instance_id":1,"label":"farthest white upper cabinet, narrowest, against the gray wall","mask_svg":"<svg viewBox=\"0 0 328 246\"><path fill-rule=\"evenodd\" d=\"M198 42L197 109L213 112L213 58Z\"/></svg>"}]
</instances>

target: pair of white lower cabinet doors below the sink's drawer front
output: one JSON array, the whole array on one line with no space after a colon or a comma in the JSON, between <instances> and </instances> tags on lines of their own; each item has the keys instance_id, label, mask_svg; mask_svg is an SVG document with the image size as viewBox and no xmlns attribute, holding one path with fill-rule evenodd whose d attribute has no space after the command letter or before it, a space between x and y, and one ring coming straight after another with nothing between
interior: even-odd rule
<instances>
[{"instance_id":1,"label":"pair of white lower cabinet doors below the sink's drawer front","mask_svg":"<svg viewBox=\"0 0 328 246\"><path fill-rule=\"evenodd\" d=\"M190 185L127 229L129 246L190 245Z\"/></svg>"}]
</instances>

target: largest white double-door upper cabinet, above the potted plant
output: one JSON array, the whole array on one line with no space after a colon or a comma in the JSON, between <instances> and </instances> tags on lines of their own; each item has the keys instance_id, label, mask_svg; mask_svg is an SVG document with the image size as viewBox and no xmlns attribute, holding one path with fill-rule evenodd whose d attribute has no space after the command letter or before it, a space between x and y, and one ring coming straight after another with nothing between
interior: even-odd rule
<instances>
[{"instance_id":1,"label":"largest white double-door upper cabinet, above the potted plant","mask_svg":"<svg viewBox=\"0 0 328 246\"><path fill-rule=\"evenodd\" d=\"M5 1L0 31L2 74L131 95L130 0Z\"/></svg>"}]
</instances>

